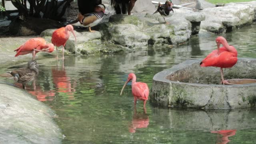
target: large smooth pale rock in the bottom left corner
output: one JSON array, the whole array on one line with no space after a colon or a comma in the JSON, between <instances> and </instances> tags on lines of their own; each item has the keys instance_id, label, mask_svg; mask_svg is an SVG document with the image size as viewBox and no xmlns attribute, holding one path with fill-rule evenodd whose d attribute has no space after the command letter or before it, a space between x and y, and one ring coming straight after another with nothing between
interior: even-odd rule
<instances>
[{"instance_id":1,"label":"large smooth pale rock in the bottom left corner","mask_svg":"<svg viewBox=\"0 0 256 144\"><path fill-rule=\"evenodd\" d=\"M60 144L61 130L49 115L52 110L26 91L0 84L0 139L4 144Z\"/></svg>"}]
</instances>

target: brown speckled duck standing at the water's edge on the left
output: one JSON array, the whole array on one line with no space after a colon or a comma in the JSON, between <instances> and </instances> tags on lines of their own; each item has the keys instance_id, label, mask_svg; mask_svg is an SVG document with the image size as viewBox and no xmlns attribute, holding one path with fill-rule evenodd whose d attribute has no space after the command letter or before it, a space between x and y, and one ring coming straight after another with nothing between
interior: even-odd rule
<instances>
[{"instance_id":1,"label":"brown speckled duck standing at the water's edge on the left","mask_svg":"<svg viewBox=\"0 0 256 144\"><path fill-rule=\"evenodd\" d=\"M35 80L36 76L38 76L37 68L38 65L36 64L36 61L31 60L28 62L28 66L26 68L20 68L8 73L10 73L18 83L22 83L23 89L26 90L26 83Z\"/></svg>"}]
</instances>

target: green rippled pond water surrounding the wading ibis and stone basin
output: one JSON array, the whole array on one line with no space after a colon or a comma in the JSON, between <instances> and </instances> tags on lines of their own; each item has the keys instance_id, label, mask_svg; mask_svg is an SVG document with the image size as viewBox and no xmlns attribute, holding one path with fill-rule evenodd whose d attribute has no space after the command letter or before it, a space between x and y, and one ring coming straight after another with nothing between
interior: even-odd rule
<instances>
[{"instance_id":1,"label":"green rippled pond water surrounding the wading ibis and stone basin","mask_svg":"<svg viewBox=\"0 0 256 144\"><path fill-rule=\"evenodd\" d=\"M238 57L256 58L256 23L227 34L203 32L178 46L97 56L38 61L36 90L27 90L55 110L64 144L255 144L255 110L157 108L148 101L134 109L131 86L120 90L130 72L151 88L153 76L185 60L204 58L224 36ZM22 67L2 68L2 71ZM225 74L225 73L224 73ZM6 80L6 79L4 79ZM7 82L18 87L13 80ZM38 120L40 122L40 120Z\"/></svg>"}]
</instances>

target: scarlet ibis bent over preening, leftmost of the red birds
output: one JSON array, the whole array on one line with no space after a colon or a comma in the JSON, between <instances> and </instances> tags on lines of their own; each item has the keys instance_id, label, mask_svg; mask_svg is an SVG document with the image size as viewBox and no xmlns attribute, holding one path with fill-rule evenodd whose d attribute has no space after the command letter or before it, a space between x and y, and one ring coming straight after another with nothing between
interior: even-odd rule
<instances>
[{"instance_id":1,"label":"scarlet ibis bent over preening, leftmost of the red birds","mask_svg":"<svg viewBox=\"0 0 256 144\"><path fill-rule=\"evenodd\" d=\"M46 44L46 41L43 38L30 38L24 44L19 46L14 50L16 51L15 56L30 54L32 53L33 60L35 60L36 53L38 52L53 52L54 45Z\"/></svg>"}]
</instances>

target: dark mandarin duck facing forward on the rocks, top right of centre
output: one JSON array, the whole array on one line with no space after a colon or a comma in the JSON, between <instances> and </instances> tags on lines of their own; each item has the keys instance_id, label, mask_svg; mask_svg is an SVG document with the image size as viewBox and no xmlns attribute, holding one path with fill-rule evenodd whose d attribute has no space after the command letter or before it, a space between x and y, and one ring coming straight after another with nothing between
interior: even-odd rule
<instances>
[{"instance_id":1,"label":"dark mandarin duck facing forward on the rocks, top right of centre","mask_svg":"<svg viewBox=\"0 0 256 144\"><path fill-rule=\"evenodd\" d=\"M168 17L170 14L170 11L174 12L172 9L172 1L166 0L165 4L158 4L158 8L154 14L157 12L160 13L160 15L164 18L164 22L166 22L165 17ZM166 22L166 24L169 24L169 22Z\"/></svg>"}]
</instances>

